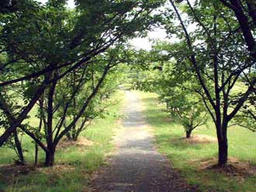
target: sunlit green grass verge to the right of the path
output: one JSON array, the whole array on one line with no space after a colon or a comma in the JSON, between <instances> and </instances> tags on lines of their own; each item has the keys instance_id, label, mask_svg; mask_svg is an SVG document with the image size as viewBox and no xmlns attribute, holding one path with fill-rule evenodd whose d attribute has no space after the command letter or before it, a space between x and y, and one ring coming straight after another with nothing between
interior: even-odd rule
<instances>
[{"instance_id":1,"label":"sunlit green grass verge to the right of the path","mask_svg":"<svg viewBox=\"0 0 256 192\"><path fill-rule=\"evenodd\" d=\"M152 126L158 150L168 156L185 180L202 191L255 191L256 177L234 176L210 170L204 163L214 162L217 157L217 143L189 143L185 139L184 129L177 122L168 118L164 105L157 101L157 95L137 91L144 102L144 114ZM192 134L216 135L213 126L202 127ZM246 129L230 127L228 131L230 157L242 163L256 164L256 135Z\"/></svg>"}]
</instances>

